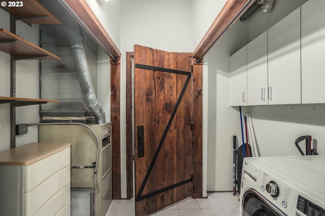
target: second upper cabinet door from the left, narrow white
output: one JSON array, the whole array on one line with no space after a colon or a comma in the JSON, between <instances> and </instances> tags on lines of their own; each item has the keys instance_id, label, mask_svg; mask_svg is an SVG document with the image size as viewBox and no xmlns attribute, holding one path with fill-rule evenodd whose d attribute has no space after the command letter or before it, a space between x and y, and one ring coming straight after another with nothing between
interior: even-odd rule
<instances>
[{"instance_id":1,"label":"second upper cabinet door from the left, narrow white","mask_svg":"<svg viewBox=\"0 0 325 216\"><path fill-rule=\"evenodd\" d=\"M247 44L248 105L268 104L268 32Z\"/></svg>"}]
</instances>

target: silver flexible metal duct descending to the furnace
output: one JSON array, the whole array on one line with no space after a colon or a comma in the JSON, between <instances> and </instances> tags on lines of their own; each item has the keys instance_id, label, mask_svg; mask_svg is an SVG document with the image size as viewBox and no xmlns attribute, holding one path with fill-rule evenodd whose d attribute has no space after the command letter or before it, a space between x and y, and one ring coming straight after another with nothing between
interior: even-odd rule
<instances>
[{"instance_id":1,"label":"silver flexible metal duct descending to the furnace","mask_svg":"<svg viewBox=\"0 0 325 216\"><path fill-rule=\"evenodd\" d=\"M95 117L96 123L103 124L106 121L105 112L98 102L93 88L79 25L71 16L67 16L66 25L68 28L70 46L77 69L83 100Z\"/></svg>"}]
</instances>

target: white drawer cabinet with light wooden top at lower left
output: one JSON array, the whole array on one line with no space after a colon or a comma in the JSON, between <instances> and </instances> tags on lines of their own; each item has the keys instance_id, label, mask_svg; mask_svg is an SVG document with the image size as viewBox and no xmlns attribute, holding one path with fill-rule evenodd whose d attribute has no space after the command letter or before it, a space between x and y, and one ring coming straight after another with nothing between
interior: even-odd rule
<instances>
[{"instance_id":1,"label":"white drawer cabinet with light wooden top at lower left","mask_svg":"<svg viewBox=\"0 0 325 216\"><path fill-rule=\"evenodd\" d=\"M70 143L0 152L0 215L70 215Z\"/></svg>"}]
</instances>

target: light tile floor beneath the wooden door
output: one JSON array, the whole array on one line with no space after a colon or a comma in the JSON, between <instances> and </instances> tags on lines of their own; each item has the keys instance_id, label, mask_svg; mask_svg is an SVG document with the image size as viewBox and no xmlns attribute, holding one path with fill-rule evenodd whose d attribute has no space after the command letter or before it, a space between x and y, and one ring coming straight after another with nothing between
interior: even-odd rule
<instances>
[{"instance_id":1,"label":"light tile floor beneath the wooden door","mask_svg":"<svg viewBox=\"0 0 325 216\"><path fill-rule=\"evenodd\" d=\"M153 216L238 216L239 201L232 192L209 193L208 198L188 198L158 211ZM106 216L135 216L135 201L113 200Z\"/></svg>"}]
</instances>

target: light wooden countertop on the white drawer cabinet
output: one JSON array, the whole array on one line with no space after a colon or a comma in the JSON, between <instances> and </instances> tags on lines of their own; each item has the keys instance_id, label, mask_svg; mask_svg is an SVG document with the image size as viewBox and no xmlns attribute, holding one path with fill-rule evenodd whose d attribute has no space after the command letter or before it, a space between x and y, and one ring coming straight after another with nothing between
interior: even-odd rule
<instances>
[{"instance_id":1,"label":"light wooden countertop on the white drawer cabinet","mask_svg":"<svg viewBox=\"0 0 325 216\"><path fill-rule=\"evenodd\" d=\"M0 165L29 165L71 146L71 143L29 143L0 152Z\"/></svg>"}]
</instances>

